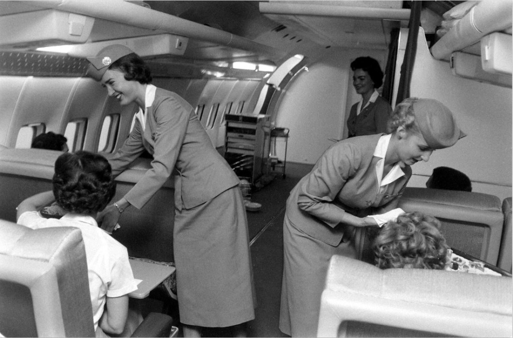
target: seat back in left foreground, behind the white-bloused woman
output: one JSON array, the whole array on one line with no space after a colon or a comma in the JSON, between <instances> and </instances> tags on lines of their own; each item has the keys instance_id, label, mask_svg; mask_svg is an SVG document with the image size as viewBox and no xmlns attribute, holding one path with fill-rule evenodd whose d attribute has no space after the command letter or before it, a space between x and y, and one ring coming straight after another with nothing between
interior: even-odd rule
<instances>
[{"instance_id":1,"label":"seat back in left foreground, behind the white-bloused woman","mask_svg":"<svg viewBox=\"0 0 513 338\"><path fill-rule=\"evenodd\" d=\"M0 220L0 328L5 336L94 336L80 229Z\"/></svg>"}]
</instances>

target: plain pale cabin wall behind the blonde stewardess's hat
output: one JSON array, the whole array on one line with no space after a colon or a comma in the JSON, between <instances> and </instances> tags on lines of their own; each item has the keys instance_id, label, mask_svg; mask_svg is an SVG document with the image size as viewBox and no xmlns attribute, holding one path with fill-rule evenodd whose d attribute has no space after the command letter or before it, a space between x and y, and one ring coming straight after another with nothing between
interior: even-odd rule
<instances>
[{"instance_id":1,"label":"plain pale cabin wall behind the blonde stewardess's hat","mask_svg":"<svg viewBox=\"0 0 513 338\"><path fill-rule=\"evenodd\" d=\"M433 168L449 166L470 178L472 191L511 196L511 88L452 75L448 62L432 58L420 32L410 95L443 102L467 134L454 146L433 152L428 162L412 166L418 186L425 186Z\"/></svg>"}]
</instances>

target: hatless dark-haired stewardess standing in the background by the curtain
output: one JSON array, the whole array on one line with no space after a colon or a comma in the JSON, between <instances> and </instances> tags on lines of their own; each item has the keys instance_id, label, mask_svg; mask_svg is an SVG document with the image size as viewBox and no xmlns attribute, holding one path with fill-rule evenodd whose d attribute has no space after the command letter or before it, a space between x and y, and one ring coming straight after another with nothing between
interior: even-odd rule
<instances>
[{"instance_id":1,"label":"hatless dark-haired stewardess standing in the background by the curtain","mask_svg":"<svg viewBox=\"0 0 513 338\"><path fill-rule=\"evenodd\" d=\"M353 87L362 99L349 112L348 137L386 133L392 108L376 90L383 85L380 64L370 56L361 56L351 62L351 70Z\"/></svg>"}]
</instances>

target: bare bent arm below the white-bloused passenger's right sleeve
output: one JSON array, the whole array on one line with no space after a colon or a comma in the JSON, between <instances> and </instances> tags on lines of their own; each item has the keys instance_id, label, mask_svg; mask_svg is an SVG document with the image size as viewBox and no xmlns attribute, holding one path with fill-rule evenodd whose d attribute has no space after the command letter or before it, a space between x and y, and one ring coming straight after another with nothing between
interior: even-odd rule
<instances>
[{"instance_id":1,"label":"bare bent arm below the white-bloused passenger's right sleeve","mask_svg":"<svg viewBox=\"0 0 513 338\"><path fill-rule=\"evenodd\" d=\"M98 325L107 333L120 334L125 328L128 315L128 295L107 297L102 318Z\"/></svg>"}]
</instances>

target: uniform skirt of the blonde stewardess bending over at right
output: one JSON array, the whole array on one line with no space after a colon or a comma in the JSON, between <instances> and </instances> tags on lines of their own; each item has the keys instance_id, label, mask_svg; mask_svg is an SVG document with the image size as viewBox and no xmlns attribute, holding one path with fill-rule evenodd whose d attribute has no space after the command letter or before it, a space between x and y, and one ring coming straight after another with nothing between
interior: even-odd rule
<instances>
[{"instance_id":1,"label":"uniform skirt of the blonde stewardess bending over at right","mask_svg":"<svg viewBox=\"0 0 513 338\"><path fill-rule=\"evenodd\" d=\"M352 241L331 246L301 231L285 215L280 330L292 337L315 337L321 294L331 256L356 258Z\"/></svg>"}]
</instances>

